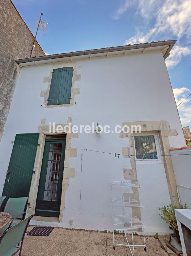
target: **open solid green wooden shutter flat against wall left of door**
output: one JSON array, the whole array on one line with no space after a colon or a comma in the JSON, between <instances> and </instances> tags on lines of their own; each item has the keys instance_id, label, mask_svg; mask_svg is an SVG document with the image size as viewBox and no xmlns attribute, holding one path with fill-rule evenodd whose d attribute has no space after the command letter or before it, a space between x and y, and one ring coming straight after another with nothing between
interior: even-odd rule
<instances>
[{"instance_id":1,"label":"open solid green wooden shutter flat against wall left of door","mask_svg":"<svg viewBox=\"0 0 191 256\"><path fill-rule=\"evenodd\" d=\"M28 197L39 133L16 134L7 170L3 196Z\"/></svg>"}]
</instances>

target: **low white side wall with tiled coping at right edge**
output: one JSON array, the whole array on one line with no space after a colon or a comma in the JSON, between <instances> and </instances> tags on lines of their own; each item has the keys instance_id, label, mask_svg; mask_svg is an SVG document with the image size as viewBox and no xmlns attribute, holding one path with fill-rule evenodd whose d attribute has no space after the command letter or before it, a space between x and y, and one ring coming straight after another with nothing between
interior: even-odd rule
<instances>
[{"instance_id":1,"label":"low white side wall with tiled coping at right edge","mask_svg":"<svg viewBox=\"0 0 191 256\"><path fill-rule=\"evenodd\" d=\"M180 195L180 203L187 203L187 206L191 208L191 155L189 155L191 154L191 148L172 150L170 154Z\"/></svg>"}]
</instances>

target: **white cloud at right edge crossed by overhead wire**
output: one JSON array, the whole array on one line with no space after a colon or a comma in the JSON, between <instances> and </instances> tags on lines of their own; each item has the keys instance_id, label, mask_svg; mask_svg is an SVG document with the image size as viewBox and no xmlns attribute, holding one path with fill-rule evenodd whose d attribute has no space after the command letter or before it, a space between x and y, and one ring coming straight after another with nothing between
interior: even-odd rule
<instances>
[{"instance_id":1,"label":"white cloud at right edge crossed by overhead wire","mask_svg":"<svg viewBox=\"0 0 191 256\"><path fill-rule=\"evenodd\" d=\"M190 94L191 90L186 87L173 89L176 105L178 106L180 102ZM178 106L178 112L180 115L180 120L182 126L186 126L191 123L191 99L186 99L183 103Z\"/></svg>"}]
</instances>

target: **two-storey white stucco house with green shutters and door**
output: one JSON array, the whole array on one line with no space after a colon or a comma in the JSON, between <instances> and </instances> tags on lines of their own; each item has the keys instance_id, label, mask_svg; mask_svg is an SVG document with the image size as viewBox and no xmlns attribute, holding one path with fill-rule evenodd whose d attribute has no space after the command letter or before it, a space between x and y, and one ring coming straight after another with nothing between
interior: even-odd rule
<instances>
[{"instance_id":1,"label":"two-storey white stucco house with green shutters and door","mask_svg":"<svg viewBox=\"0 0 191 256\"><path fill-rule=\"evenodd\" d=\"M186 146L165 65L175 43L16 60L21 71L0 142L0 195L28 196L33 224L112 231L111 182L138 181L146 233L168 233L158 207L178 204L169 150ZM111 132L97 134L92 123ZM93 132L68 132L68 124ZM142 132L119 132L124 125Z\"/></svg>"}]
</instances>

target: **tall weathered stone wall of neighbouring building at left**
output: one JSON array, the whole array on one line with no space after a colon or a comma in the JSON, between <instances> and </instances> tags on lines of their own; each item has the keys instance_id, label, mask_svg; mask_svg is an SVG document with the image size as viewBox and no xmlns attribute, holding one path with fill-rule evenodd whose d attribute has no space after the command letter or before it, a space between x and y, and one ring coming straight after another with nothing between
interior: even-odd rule
<instances>
[{"instance_id":1,"label":"tall weathered stone wall of neighbouring building at left","mask_svg":"<svg viewBox=\"0 0 191 256\"><path fill-rule=\"evenodd\" d=\"M35 20L34 20L35 22ZM34 37L10 0L0 4L0 141L20 68L15 59L29 58ZM32 57L45 53L36 42Z\"/></svg>"}]
</instances>

